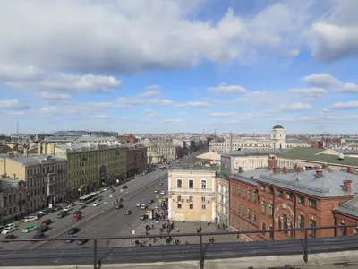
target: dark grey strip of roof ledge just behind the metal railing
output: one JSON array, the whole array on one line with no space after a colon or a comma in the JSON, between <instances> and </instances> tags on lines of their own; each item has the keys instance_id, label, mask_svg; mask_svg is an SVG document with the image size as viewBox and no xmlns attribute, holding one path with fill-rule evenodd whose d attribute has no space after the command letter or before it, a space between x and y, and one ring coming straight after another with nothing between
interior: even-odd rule
<instances>
[{"instance_id":1,"label":"dark grey strip of roof ledge just behind the metal railing","mask_svg":"<svg viewBox=\"0 0 358 269\"><path fill-rule=\"evenodd\" d=\"M356 236L309 239L311 254L356 250L357 247ZM90 265L94 260L93 250L93 242L91 242L87 247L76 249L19 250L15 254L9 251L0 251L0 265ZM302 254L303 242L299 239L203 244L205 259ZM97 257L102 265L199 260L200 246L99 247Z\"/></svg>"}]
</instances>

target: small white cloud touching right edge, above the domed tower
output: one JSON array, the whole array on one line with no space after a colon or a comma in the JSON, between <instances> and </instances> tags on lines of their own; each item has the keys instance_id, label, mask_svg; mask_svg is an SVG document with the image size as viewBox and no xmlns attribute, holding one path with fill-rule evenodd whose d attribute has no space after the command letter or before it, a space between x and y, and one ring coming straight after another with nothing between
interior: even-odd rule
<instances>
[{"instance_id":1,"label":"small white cloud touching right edge, above the domed tower","mask_svg":"<svg viewBox=\"0 0 358 269\"><path fill-rule=\"evenodd\" d=\"M315 87L325 87L332 91L342 93L358 92L358 85L354 83L344 83L331 74L311 74L303 77L303 82L308 82Z\"/></svg>"}]
</instances>

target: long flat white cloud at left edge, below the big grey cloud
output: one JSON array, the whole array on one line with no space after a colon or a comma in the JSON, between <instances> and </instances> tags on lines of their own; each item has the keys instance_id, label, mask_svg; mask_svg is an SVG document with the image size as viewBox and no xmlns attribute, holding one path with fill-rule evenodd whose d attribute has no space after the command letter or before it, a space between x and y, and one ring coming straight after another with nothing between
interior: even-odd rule
<instances>
[{"instance_id":1,"label":"long flat white cloud at left edge, below the big grey cloud","mask_svg":"<svg viewBox=\"0 0 358 269\"><path fill-rule=\"evenodd\" d=\"M112 76L52 73L33 65L0 65L0 82L12 88L78 92L104 92L122 84Z\"/></svg>"}]
</instances>

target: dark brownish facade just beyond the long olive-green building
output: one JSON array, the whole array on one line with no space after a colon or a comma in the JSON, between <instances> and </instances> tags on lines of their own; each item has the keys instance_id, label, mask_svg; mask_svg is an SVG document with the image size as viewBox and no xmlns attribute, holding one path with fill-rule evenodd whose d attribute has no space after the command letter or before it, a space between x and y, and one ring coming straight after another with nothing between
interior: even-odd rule
<instances>
[{"instance_id":1,"label":"dark brownish facade just beyond the long olive-green building","mask_svg":"<svg viewBox=\"0 0 358 269\"><path fill-rule=\"evenodd\" d=\"M143 145L127 147L127 177L148 169L147 148Z\"/></svg>"}]
</instances>

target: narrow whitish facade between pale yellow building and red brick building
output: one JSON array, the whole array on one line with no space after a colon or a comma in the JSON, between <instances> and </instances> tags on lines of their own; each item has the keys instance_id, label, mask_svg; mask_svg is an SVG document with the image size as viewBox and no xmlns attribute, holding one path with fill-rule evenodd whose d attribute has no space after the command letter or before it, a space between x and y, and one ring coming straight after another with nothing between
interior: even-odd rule
<instances>
[{"instance_id":1,"label":"narrow whitish facade between pale yellow building and red brick building","mask_svg":"<svg viewBox=\"0 0 358 269\"><path fill-rule=\"evenodd\" d=\"M215 179L217 186L217 223L221 228L228 229L230 211L229 177L225 174L217 173Z\"/></svg>"}]
</instances>

